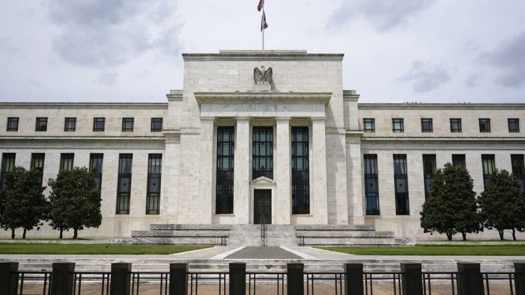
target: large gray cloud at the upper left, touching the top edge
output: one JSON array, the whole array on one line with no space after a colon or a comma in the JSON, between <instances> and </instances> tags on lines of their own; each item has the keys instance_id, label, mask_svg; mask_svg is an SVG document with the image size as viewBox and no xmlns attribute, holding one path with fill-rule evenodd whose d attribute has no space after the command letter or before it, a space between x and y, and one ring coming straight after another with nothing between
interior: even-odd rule
<instances>
[{"instance_id":1,"label":"large gray cloud at the upper left, touching the top edge","mask_svg":"<svg viewBox=\"0 0 525 295\"><path fill-rule=\"evenodd\" d=\"M61 33L53 48L71 64L98 68L122 65L148 50L177 56L175 10L170 0L54 0L49 17Z\"/></svg>"}]
</instances>

